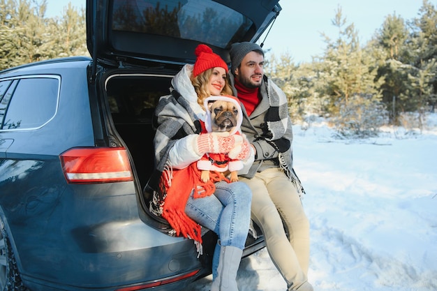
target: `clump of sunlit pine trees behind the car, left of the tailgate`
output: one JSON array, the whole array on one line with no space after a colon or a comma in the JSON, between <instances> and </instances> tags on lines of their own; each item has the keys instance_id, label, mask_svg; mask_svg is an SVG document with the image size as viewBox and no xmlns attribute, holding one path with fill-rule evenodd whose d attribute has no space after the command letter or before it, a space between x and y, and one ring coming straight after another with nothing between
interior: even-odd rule
<instances>
[{"instance_id":1,"label":"clump of sunlit pine trees behind the car, left of the tailgate","mask_svg":"<svg viewBox=\"0 0 437 291\"><path fill-rule=\"evenodd\" d=\"M45 17L47 0L0 0L0 69L44 59L89 55L85 11L71 3Z\"/></svg>"}]
</instances>

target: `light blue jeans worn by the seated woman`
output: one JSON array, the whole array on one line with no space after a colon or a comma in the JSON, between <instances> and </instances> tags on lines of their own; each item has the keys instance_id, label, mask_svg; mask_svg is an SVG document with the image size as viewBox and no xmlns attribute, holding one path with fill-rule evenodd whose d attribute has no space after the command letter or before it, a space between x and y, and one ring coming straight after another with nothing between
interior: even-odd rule
<instances>
[{"instance_id":1,"label":"light blue jeans worn by the seated woman","mask_svg":"<svg viewBox=\"0 0 437 291\"><path fill-rule=\"evenodd\" d=\"M191 194L185 213L200 225L214 231L221 246L244 249L251 220L252 193L245 183L216 183L214 195L193 199ZM219 249L213 257L213 276L218 265Z\"/></svg>"}]
</instances>

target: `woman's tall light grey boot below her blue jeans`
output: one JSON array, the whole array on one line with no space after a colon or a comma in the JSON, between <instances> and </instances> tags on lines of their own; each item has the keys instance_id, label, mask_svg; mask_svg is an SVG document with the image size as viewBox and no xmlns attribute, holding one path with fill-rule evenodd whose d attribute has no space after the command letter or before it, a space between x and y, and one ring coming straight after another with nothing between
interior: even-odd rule
<instances>
[{"instance_id":1,"label":"woman's tall light grey boot below her blue jeans","mask_svg":"<svg viewBox=\"0 0 437 291\"><path fill-rule=\"evenodd\" d=\"M212 282L211 291L238 291L236 278L242 254L243 250L235 246L221 246L217 277Z\"/></svg>"}]
</instances>

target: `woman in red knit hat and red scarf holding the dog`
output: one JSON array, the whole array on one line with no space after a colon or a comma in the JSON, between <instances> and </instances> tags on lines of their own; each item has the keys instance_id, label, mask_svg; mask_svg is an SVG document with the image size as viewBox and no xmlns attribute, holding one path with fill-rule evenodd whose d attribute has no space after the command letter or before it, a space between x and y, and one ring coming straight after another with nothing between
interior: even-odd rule
<instances>
[{"instance_id":1,"label":"woman in red knit hat and red scarf holding the dog","mask_svg":"<svg viewBox=\"0 0 437 291\"><path fill-rule=\"evenodd\" d=\"M205 98L230 94L228 66L207 45L199 45L194 66L185 65L172 79L171 94L155 112L154 137L159 191L154 203L177 234L193 239L202 252L200 225L216 232L221 245L212 291L237 291L237 269L249 231L251 191L246 184L228 183L212 172L204 183L196 162L207 152L235 153L253 162L253 150L242 135L204 133ZM232 151L232 152L235 152Z\"/></svg>"}]
</instances>

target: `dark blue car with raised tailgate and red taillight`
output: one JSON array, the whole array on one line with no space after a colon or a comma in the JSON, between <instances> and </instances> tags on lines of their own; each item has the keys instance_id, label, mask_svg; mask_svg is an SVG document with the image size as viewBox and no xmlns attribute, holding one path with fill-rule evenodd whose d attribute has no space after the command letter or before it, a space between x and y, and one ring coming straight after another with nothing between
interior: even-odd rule
<instances>
[{"instance_id":1,"label":"dark blue car with raised tailgate and red taillight","mask_svg":"<svg viewBox=\"0 0 437 291\"><path fill-rule=\"evenodd\" d=\"M197 45L229 64L278 2L87 0L91 57L0 72L0 290L183 290L211 274L215 234L198 256L150 209L154 107ZM243 257L264 247L248 235Z\"/></svg>"}]
</instances>

